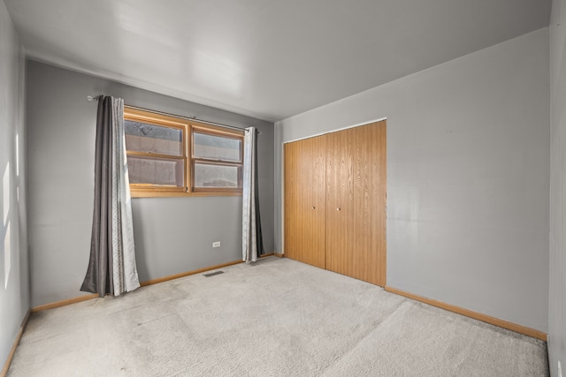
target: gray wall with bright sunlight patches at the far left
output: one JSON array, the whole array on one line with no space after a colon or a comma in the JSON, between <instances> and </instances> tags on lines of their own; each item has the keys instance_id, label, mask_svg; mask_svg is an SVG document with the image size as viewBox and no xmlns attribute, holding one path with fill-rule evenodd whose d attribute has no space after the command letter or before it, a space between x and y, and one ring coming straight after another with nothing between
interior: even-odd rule
<instances>
[{"instance_id":1,"label":"gray wall with bright sunlight patches at the far left","mask_svg":"<svg viewBox=\"0 0 566 377\"><path fill-rule=\"evenodd\" d=\"M24 69L18 34L0 1L0 369L29 309Z\"/></svg>"}]
</instances>

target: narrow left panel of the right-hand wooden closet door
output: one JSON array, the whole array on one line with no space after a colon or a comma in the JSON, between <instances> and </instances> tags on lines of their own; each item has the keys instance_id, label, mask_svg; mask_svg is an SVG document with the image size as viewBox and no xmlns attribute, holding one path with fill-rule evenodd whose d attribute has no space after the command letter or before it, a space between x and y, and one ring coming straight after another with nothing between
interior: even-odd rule
<instances>
[{"instance_id":1,"label":"narrow left panel of the right-hand wooden closet door","mask_svg":"<svg viewBox=\"0 0 566 377\"><path fill-rule=\"evenodd\" d=\"M352 275L353 129L326 135L326 268Z\"/></svg>"}]
</instances>

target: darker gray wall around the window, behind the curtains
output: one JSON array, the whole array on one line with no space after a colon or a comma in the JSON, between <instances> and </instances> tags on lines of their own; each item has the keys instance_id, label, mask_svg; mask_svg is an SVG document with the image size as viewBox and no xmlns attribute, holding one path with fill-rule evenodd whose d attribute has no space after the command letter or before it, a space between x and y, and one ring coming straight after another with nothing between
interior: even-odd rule
<instances>
[{"instance_id":1,"label":"darker gray wall around the window, behind the curtains","mask_svg":"<svg viewBox=\"0 0 566 377\"><path fill-rule=\"evenodd\" d=\"M273 246L273 124L27 62L27 155L32 305L80 296L92 223L96 102L128 105L239 127L255 125L264 246ZM140 280L241 260L241 197L133 200ZM221 241L220 248L212 248Z\"/></svg>"}]
</instances>

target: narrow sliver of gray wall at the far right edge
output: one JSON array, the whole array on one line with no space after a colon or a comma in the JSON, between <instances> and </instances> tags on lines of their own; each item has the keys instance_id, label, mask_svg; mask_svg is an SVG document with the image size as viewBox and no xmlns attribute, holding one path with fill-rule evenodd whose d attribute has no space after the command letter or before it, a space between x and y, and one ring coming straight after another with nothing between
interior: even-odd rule
<instances>
[{"instance_id":1,"label":"narrow sliver of gray wall at the far right edge","mask_svg":"<svg viewBox=\"0 0 566 377\"><path fill-rule=\"evenodd\" d=\"M550 290L548 358L566 375L566 1L555 0L550 20Z\"/></svg>"}]
</instances>

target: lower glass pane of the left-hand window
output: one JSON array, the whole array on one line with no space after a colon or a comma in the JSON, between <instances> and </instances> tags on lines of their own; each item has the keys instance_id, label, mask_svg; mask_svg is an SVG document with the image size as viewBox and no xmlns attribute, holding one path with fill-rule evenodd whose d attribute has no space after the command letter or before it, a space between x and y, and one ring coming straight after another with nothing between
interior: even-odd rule
<instances>
[{"instance_id":1,"label":"lower glass pane of the left-hand window","mask_svg":"<svg viewBox=\"0 0 566 377\"><path fill-rule=\"evenodd\" d=\"M153 159L127 156L130 184L169 185L184 187L184 163L180 159Z\"/></svg>"}]
</instances>

